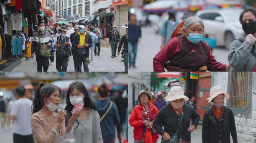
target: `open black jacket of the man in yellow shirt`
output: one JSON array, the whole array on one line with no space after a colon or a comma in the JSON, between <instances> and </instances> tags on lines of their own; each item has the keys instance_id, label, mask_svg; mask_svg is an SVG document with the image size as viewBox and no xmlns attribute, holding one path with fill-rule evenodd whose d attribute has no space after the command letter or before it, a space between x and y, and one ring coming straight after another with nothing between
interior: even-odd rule
<instances>
[{"instance_id":1,"label":"open black jacket of the man in yellow shirt","mask_svg":"<svg viewBox=\"0 0 256 143\"><path fill-rule=\"evenodd\" d=\"M80 41L79 34L75 34L73 37L72 47L78 49L77 46L79 45L79 41ZM86 35L85 35L85 43L89 44L89 47L92 47L92 38L89 33L86 33ZM90 53L89 47L87 47L87 48L84 47L84 48L86 48L85 57L77 57L77 59L88 58L89 53Z\"/></svg>"}]
</instances>

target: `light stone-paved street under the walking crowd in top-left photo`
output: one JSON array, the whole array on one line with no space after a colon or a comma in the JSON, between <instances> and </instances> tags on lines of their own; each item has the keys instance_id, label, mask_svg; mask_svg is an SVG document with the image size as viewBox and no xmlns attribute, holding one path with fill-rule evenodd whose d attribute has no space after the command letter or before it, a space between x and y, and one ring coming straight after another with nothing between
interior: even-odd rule
<instances>
[{"instance_id":1,"label":"light stone-paved street under the walking crowd in top-left photo","mask_svg":"<svg viewBox=\"0 0 256 143\"><path fill-rule=\"evenodd\" d=\"M110 58L110 56L111 48L101 48L100 57L94 56L94 61L89 63L89 71L124 71L124 62L120 61L122 60L121 55L117 58ZM12 71L37 71L36 57L33 60L30 59L22 62ZM56 59L54 59L54 65L49 66L48 71L57 71ZM67 71L74 71L73 57L69 57Z\"/></svg>"}]
</instances>

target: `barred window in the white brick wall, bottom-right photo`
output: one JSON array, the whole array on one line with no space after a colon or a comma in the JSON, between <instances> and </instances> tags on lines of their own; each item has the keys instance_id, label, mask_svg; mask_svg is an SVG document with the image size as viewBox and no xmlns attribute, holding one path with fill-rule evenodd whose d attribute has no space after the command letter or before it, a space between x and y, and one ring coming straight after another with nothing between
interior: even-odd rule
<instances>
[{"instance_id":1,"label":"barred window in the white brick wall, bottom-right photo","mask_svg":"<svg viewBox=\"0 0 256 143\"><path fill-rule=\"evenodd\" d=\"M231 72L230 107L247 107L249 72Z\"/></svg>"}]
</instances>

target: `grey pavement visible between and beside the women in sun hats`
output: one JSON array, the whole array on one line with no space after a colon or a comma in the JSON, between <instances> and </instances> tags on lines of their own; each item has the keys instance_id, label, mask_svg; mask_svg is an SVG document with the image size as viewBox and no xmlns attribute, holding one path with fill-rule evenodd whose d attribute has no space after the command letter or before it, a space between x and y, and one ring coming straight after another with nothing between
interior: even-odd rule
<instances>
[{"instance_id":1,"label":"grey pavement visible between and beside the women in sun hats","mask_svg":"<svg viewBox=\"0 0 256 143\"><path fill-rule=\"evenodd\" d=\"M231 137L231 136L230 136ZM161 143L162 136L159 135L158 143ZM128 143L134 143L133 138L133 127L131 125L128 125ZM202 143L202 126L198 125L197 129L191 133L191 143ZM233 143L232 137L231 137L231 143ZM243 139L238 139L238 143L253 143L249 142Z\"/></svg>"}]
</instances>

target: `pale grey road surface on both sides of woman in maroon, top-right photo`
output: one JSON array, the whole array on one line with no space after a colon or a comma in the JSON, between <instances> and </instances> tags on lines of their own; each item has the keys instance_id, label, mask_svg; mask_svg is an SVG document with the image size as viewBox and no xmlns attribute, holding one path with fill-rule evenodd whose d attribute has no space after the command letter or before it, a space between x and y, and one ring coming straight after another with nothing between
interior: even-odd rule
<instances>
[{"instance_id":1,"label":"pale grey road surface on both sides of woman in maroon, top-right photo","mask_svg":"<svg viewBox=\"0 0 256 143\"><path fill-rule=\"evenodd\" d=\"M161 36L156 35L152 27L143 27L141 43L138 44L136 69L129 71L153 71L153 58L159 52ZM215 59L221 63L228 64L228 50L218 47L213 50Z\"/></svg>"}]
</instances>

